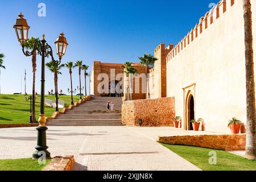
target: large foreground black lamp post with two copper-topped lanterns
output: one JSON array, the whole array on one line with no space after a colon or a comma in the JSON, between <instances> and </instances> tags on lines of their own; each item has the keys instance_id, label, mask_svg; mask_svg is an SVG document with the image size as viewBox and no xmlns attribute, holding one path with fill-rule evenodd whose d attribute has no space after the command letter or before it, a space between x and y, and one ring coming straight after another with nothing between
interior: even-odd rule
<instances>
[{"instance_id":1,"label":"large foreground black lamp post with two copper-topped lanterns","mask_svg":"<svg viewBox=\"0 0 256 182\"><path fill-rule=\"evenodd\" d=\"M36 128L38 130L38 140L37 140L37 146L36 151L33 153L32 158L38 159L42 156L45 156L46 159L51 158L50 152L47 151L47 144L46 144L46 117L44 114L44 72L45 72L45 58L51 57L52 61L56 64L60 64L61 58L63 55L65 55L65 51L67 49L68 43L67 39L64 37L64 34L61 33L60 36L57 38L55 44L56 44L56 51L57 55L59 55L59 61L56 61L53 58L52 48L48 45L46 42L45 35L43 35L42 40L37 40L34 43L34 46L32 47L32 51L25 51L25 44L28 39L28 30L30 29L30 26L27 24L27 20L23 18L24 16L22 13L20 13L19 18L16 19L16 24L14 25L14 29L16 32L16 36L18 38L18 41L20 42L22 46L22 51L25 56L31 56L35 52L38 53L38 55L42 56L42 72L41 72L41 97L40 97L40 117L38 119L40 125Z\"/></svg>"}]
</instances>

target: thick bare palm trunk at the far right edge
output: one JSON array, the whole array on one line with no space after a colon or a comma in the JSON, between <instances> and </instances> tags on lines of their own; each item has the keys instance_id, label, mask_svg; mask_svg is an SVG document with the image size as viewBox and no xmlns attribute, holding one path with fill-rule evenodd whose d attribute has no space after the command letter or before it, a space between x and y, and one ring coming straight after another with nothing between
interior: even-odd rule
<instances>
[{"instance_id":1,"label":"thick bare palm trunk at the far right edge","mask_svg":"<svg viewBox=\"0 0 256 182\"><path fill-rule=\"evenodd\" d=\"M246 69L246 158L256 159L255 127L255 81L253 61L253 26L251 2L243 0L243 19L245 22L245 69Z\"/></svg>"}]
</instances>

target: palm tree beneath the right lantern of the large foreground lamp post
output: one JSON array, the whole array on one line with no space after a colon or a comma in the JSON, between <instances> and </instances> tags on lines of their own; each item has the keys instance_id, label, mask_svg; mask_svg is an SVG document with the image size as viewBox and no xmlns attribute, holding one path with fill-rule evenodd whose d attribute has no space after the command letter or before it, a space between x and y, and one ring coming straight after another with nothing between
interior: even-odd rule
<instances>
[{"instance_id":1,"label":"palm tree beneath the right lantern of the large foreground lamp post","mask_svg":"<svg viewBox=\"0 0 256 182\"><path fill-rule=\"evenodd\" d=\"M55 107L55 111L59 111L59 97L58 97L58 75L61 75L60 69L65 67L64 64L56 64L53 61L49 61L48 63L46 63L46 66L48 67L49 71L51 71L52 73L54 73L54 86L55 86L55 98L56 98L56 107Z\"/></svg>"}]
</instances>

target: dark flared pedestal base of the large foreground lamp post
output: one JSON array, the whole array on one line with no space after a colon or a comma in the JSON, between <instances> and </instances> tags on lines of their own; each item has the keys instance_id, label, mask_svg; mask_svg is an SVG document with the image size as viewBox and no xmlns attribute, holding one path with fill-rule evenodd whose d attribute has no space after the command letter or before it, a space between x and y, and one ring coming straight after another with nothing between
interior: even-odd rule
<instances>
[{"instance_id":1,"label":"dark flared pedestal base of the large foreground lamp post","mask_svg":"<svg viewBox=\"0 0 256 182\"><path fill-rule=\"evenodd\" d=\"M38 145L35 147L35 151L32 155L33 159L49 159L51 158L51 153L47 151L48 146L46 145L46 126L39 126L36 128L38 130Z\"/></svg>"}]
</instances>

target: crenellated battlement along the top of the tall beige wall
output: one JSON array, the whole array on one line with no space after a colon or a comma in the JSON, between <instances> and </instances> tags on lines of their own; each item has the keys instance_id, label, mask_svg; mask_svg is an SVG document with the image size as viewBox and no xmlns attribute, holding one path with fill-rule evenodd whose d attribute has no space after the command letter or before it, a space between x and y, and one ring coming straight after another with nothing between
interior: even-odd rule
<instances>
[{"instance_id":1,"label":"crenellated battlement along the top of the tall beige wall","mask_svg":"<svg viewBox=\"0 0 256 182\"><path fill-rule=\"evenodd\" d=\"M196 40L204 31L207 30L218 18L226 13L229 9L234 5L234 0L221 0L214 6L210 11L208 11L204 16L199 19L199 23L196 24L188 34L181 39L176 46L171 49L171 51L166 56L166 61L170 61L172 57L175 57L178 53L180 53L184 48L188 47L193 41ZM155 49L155 52L157 50Z\"/></svg>"}]
</instances>

